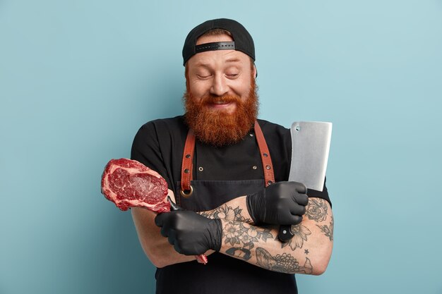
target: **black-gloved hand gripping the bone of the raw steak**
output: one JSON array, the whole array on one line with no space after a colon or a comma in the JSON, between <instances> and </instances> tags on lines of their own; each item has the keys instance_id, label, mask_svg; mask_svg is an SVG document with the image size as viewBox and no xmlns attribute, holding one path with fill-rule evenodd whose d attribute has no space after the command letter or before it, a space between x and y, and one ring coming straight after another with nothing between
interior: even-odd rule
<instances>
[{"instance_id":1,"label":"black-gloved hand gripping the bone of the raw steak","mask_svg":"<svg viewBox=\"0 0 442 294\"><path fill-rule=\"evenodd\" d=\"M155 217L161 235L169 239L175 251L183 255L202 255L207 250L221 248L220 219L208 219L189 210L165 212Z\"/></svg>"}]
</instances>

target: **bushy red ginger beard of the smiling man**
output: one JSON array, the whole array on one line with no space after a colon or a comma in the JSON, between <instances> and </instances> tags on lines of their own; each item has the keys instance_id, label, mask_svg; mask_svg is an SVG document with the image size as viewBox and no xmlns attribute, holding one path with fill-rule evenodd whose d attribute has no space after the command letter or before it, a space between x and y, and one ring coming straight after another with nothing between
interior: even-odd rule
<instances>
[{"instance_id":1,"label":"bushy red ginger beard of the smiling man","mask_svg":"<svg viewBox=\"0 0 442 294\"><path fill-rule=\"evenodd\" d=\"M189 128L195 133L195 137L201 142L215 147L234 145L241 141L253 128L253 123L258 116L258 94L255 79L251 79L249 97L241 101L237 95L215 96L208 94L199 102L193 99L189 91L189 83L186 83L184 93L184 106L186 121ZM211 102L234 102L237 108L233 114L227 114L223 110L210 109Z\"/></svg>"}]
</instances>

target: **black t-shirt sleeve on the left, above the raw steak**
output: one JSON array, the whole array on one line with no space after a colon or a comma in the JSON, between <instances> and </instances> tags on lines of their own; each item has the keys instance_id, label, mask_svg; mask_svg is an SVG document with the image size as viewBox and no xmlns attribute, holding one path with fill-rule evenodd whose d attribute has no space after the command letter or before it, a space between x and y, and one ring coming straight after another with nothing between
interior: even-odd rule
<instances>
[{"instance_id":1,"label":"black t-shirt sleeve on the left, above the raw steak","mask_svg":"<svg viewBox=\"0 0 442 294\"><path fill-rule=\"evenodd\" d=\"M131 149L131 159L153 169L165 178L169 189L172 187L165 162L162 158L157 129L152 122L145 123L135 135Z\"/></svg>"}]
</instances>

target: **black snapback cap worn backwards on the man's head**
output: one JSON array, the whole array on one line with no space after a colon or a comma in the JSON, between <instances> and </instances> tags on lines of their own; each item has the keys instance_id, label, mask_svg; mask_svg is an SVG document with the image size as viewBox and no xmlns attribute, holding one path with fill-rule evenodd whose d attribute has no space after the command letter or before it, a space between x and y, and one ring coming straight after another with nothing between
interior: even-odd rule
<instances>
[{"instance_id":1,"label":"black snapback cap worn backwards on the man's head","mask_svg":"<svg viewBox=\"0 0 442 294\"><path fill-rule=\"evenodd\" d=\"M214 42L196 45L196 40L199 37L204 35L205 32L214 29L227 30L227 32L232 35L233 42ZM187 35L183 47L183 65L186 65L186 62L199 52L232 49L249 55L251 59L255 61L255 45L253 44L253 39L241 23L227 18L208 20L194 27L193 30L189 32L189 35Z\"/></svg>"}]
</instances>

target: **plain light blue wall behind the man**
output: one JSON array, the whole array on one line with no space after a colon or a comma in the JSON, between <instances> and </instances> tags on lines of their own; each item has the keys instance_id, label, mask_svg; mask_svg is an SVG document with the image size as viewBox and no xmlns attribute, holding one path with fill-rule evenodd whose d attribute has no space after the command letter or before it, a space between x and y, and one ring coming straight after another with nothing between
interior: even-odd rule
<instances>
[{"instance_id":1,"label":"plain light blue wall behind the man","mask_svg":"<svg viewBox=\"0 0 442 294\"><path fill-rule=\"evenodd\" d=\"M332 121L335 248L301 293L442 293L442 1L0 0L0 293L153 293L100 194L138 128L181 114L181 47L234 18L261 118Z\"/></svg>"}]
</instances>

